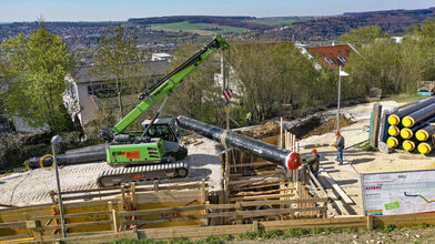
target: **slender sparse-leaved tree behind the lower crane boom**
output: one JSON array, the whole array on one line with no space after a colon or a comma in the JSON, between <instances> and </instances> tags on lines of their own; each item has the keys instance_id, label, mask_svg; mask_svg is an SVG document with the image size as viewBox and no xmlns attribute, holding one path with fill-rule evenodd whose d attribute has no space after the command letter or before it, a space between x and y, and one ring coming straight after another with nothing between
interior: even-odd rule
<instances>
[{"instance_id":1,"label":"slender sparse-leaved tree behind the lower crane boom","mask_svg":"<svg viewBox=\"0 0 435 244\"><path fill-rule=\"evenodd\" d=\"M119 106L118 120L125 115L122 96L129 93L129 89L136 81L138 75L133 73L138 72L142 61L135 38L125 32L121 24L111 28L107 35L101 38L94 54L93 71L101 77L108 89L115 91Z\"/></svg>"}]
</instances>

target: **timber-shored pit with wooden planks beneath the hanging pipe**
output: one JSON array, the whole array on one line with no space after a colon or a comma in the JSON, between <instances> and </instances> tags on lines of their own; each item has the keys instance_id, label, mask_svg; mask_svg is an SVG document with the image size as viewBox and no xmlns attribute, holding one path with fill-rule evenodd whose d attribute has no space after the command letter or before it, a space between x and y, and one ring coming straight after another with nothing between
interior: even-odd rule
<instances>
[{"instance_id":1,"label":"timber-shored pit with wooden planks beneath the hanging pipe","mask_svg":"<svg viewBox=\"0 0 435 244\"><path fill-rule=\"evenodd\" d=\"M250 131L241 133L253 136ZM299 143L290 132L261 140L299 152ZM326 217L327 195L306 166L285 172L283 167L273 163L231 149L225 152L223 167L223 203L235 204L239 206L236 211L252 211L256 207L275 213L261 218L250 218L251 222ZM302 175L301 179L300 175ZM311 189L310 192L307 187ZM253 205L246 207L246 203L253 203ZM225 217L224 222L229 220L231 218ZM235 223L246 223L246 218L239 216Z\"/></svg>"}]
</instances>

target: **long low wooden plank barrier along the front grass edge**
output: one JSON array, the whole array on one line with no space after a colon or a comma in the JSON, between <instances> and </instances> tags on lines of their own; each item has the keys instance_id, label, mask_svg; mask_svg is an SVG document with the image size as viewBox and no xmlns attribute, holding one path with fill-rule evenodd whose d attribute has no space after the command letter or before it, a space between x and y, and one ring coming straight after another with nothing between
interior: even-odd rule
<instances>
[{"instance_id":1,"label":"long low wooden plank barrier along the front grass edge","mask_svg":"<svg viewBox=\"0 0 435 244\"><path fill-rule=\"evenodd\" d=\"M108 213L109 214L109 213ZM131 213L123 213L123 216L130 216ZM38 226L34 226L37 221L2 223L0 227L27 227L33 232L33 235L19 234L12 236L1 236L0 243L17 243L17 242L53 242L61 240L61 235L34 235ZM95 223L98 224L98 223ZM64 242L80 242L87 241L111 241L118 238L153 238L153 240L169 240L173 237L202 238L211 235L239 235L251 231L271 231L289 228L315 228L315 227L356 227L356 228L382 228L387 225L395 226L416 226L421 224L435 224L435 213L423 214L403 214L403 215L384 215L384 216L342 216L334 218L310 218L310 220L287 220L287 221L270 221L261 222L254 221L251 224L237 225L215 225L215 226L176 226L176 227L160 227L160 228L144 228L144 230L129 230L129 231L105 231L105 232L88 232L88 233L68 233Z\"/></svg>"}]
</instances>

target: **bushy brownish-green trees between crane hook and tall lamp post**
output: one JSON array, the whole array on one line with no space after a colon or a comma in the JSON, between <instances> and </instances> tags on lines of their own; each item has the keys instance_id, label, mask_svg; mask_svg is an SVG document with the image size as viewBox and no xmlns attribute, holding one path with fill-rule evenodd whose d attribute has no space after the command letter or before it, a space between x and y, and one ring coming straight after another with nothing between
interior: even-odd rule
<instances>
[{"instance_id":1,"label":"bushy brownish-green trees between crane hook and tall lamp post","mask_svg":"<svg viewBox=\"0 0 435 244\"><path fill-rule=\"evenodd\" d=\"M283 113L284 104L314 103L317 73L290 42L233 44L231 64L246 111L260 121Z\"/></svg>"}]
</instances>

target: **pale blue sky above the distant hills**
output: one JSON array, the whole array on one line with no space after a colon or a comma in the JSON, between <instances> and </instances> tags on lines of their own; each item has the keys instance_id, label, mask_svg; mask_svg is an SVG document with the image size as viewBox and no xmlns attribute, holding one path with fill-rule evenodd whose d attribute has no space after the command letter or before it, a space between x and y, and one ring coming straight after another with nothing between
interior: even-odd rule
<instances>
[{"instance_id":1,"label":"pale blue sky above the distant hills","mask_svg":"<svg viewBox=\"0 0 435 244\"><path fill-rule=\"evenodd\" d=\"M0 0L0 22L127 21L163 16L332 16L425 9L435 0Z\"/></svg>"}]
</instances>

